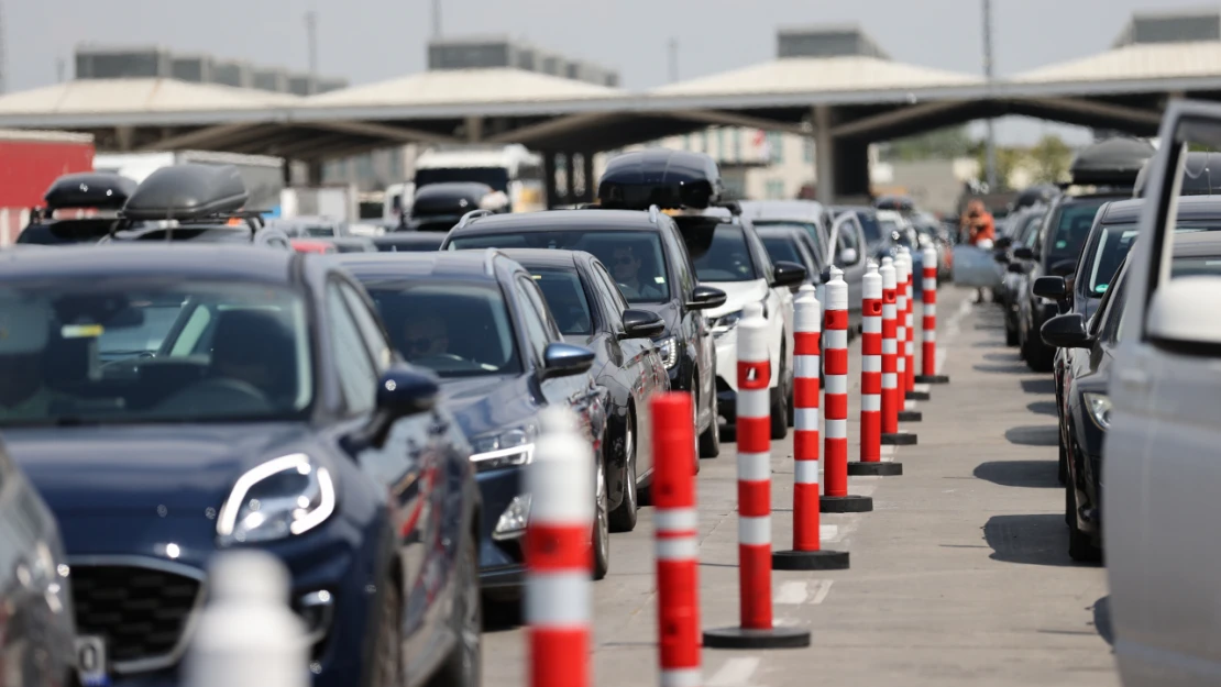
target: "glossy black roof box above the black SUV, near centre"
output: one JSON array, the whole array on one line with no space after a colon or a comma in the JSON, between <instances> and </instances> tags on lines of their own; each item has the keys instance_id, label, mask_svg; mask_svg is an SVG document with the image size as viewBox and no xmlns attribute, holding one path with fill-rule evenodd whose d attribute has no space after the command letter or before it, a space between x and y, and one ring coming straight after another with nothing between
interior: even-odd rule
<instances>
[{"instance_id":1,"label":"glossy black roof box above the black SUV, near centre","mask_svg":"<svg viewBox=\"0 0 1221 687\"><path fill-rule=\"evenodd\" d=\"M607 162L598 205L620 210L703 210L720 203L724 183L717 161L703 153L662 148L628 153Z\"/></svg>"}]
</instances>

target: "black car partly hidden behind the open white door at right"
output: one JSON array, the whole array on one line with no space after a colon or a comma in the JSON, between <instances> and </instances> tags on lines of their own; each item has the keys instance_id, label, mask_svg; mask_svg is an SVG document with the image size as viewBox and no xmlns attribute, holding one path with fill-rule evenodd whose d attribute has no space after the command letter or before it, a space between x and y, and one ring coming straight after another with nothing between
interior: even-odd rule
<instances>
[{"instance_id":1,"label":"black car partly hidden behind the open white door at right","mask_svg":"<svg viewBox=\"0 0 1221 687\"><path fill-rule=\"evenodd\" d=\"M1073 560L1098 560L1101 555L1103 443L1111 422L1111 369L1115 348L1125 336L1132 336L1123 327L1127 267L1125 259L1092 318L1068 312L1049 320L1042 332L1048 345L1081 353L1066 362L1060 409L1060 432L1067 448L1065 520ZM1221 236L1200 232L1175 237L1171 273L1176 278L1221 275Z\"/></svg>"}]
</instances>

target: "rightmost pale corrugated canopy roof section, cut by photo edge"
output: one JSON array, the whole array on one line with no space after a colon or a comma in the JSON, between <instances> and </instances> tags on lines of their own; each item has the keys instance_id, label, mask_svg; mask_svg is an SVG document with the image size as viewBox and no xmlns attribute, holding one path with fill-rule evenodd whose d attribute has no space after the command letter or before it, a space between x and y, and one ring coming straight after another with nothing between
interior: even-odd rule
<instances>
[{"instance_id":1,"label":"rightmost pale corrugated canopy roof section, cut by photo edge","mask_svg":"<svg viewBox=\"0 0 1221 687\"><path fill-rule=\"evenodd\" d=\"M1125 45L1015 76L1013 83L1221 77L1221 41Z\"/></svg>"}]
</instances>

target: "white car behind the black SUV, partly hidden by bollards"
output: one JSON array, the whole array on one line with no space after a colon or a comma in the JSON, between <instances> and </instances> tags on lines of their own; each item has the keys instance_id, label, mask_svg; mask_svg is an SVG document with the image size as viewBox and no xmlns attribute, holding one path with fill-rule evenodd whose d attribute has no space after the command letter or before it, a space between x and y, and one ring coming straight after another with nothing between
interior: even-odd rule
<instances>
[{"instance_id":1,"label":"white car behind the black SUV, partly hidden by bollards","mask_svg":"<svg viewBox=\"0 0 1221 687\"><path fill-rule=\"evenodd\" d=\"M706 312L717 344L717 400L730 422L737 409L737 322L750 303L763 305L772 369L772 438L788 436L792 423L792 289L806 268L773 265L753 226L741 217L719 217L692 227L680 222L701 284L725 292L725 304Z\"/></svg>"}]
</instances>

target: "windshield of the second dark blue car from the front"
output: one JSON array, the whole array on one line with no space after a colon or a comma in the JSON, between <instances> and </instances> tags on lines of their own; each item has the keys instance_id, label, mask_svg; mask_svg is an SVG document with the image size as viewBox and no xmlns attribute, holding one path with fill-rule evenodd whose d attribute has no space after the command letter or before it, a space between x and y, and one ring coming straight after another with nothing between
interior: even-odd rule
<instances>
[{"instance_id":1,"label":"windshield of the second dark blue car from the front","mask_svg":"<svg viewBox=\"0 0 1221 687\"><path fill-rule=\"evenodd\" d=\"M441 377L521 371L504 294L464 282L372 282L389 340L410 362Z\"/></svg>"}]
</instances>

